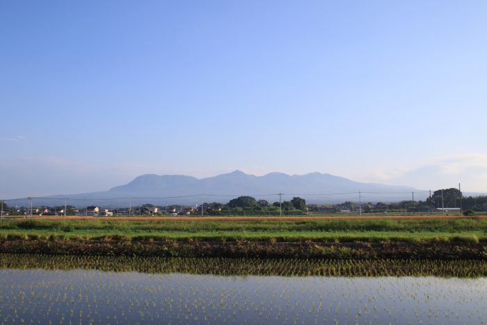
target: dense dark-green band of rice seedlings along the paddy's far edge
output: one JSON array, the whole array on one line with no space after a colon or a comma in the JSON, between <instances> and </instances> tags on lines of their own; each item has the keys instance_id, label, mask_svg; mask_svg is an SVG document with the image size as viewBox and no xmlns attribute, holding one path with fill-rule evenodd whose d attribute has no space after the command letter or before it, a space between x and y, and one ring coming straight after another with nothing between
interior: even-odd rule
<instances>
[{"instance_id":1,"label":"dense dark-green band of rice seedlings along the paddy's far edge","mask_svg":"<svg viewBox=\"0 0 487 325\"><path fill-rule=\"evenodd\" d=\"M322 260L186 257L99 257L0 254L0 268L99 269L143 273L213 274L218 276L443 276L487 275L480 260Z\"/></svg>"}]
</instances>

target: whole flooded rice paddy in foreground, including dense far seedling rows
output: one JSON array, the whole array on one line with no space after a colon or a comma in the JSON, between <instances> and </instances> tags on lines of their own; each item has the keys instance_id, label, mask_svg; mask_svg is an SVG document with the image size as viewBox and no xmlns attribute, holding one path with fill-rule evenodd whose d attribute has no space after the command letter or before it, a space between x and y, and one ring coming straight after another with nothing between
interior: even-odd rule
<instances>
[{"instance_id":1,"label":"whole flooded rice paddy in foreground, including dense far seedling rows","mask_svg":"<svg viewBox=\"0 0 487 325\"><path fill-rule=\"evenodd\" d=\"M484 324L486 299L479 260L0 254L1 324Z\"/></svg>"}]
</instances>

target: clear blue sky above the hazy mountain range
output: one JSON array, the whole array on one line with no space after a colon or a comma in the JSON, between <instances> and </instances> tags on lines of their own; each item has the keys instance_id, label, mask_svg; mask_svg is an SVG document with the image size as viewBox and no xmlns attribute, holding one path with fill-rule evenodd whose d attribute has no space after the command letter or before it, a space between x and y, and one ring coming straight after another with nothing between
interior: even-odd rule
<instances>
[{"instance_id":1,"label":"clear blue sky above the hazy mountain range","mask_svg":"<svg viewBox=\"0 0 487 325\"><path fill-rule=\"evenodd\" d=\"M137 175L487 192L486 1L1 1L0 198Z\"/></svg>"}]
</instances>

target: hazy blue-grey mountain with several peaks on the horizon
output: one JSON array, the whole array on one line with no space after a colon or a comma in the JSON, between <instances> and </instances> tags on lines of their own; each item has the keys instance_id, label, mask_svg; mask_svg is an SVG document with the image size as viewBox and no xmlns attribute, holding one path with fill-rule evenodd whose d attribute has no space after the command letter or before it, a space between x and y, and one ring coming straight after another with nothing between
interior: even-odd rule
<instances>
[{"instance_id":1,"label":"hazy blue-grey mountain with several peaks on the horizon","mask_svg":"<svg viewBox=\"0 0 487 325\"><path fill-rule=\"evenodd\" d=\"M201 202L201 193L205 202L227 203L236 196L254 196L268 200L279 200L278 193L284 193L282 200L292 196L305 198L308 203L341 203L346 200L358 202L361 191L362 202L391 202L410 200L413 187L391 186L374 183L361 183L323 173L306 175L287 175L269 173L263 176L248 175L241 171L198 179L186 175L141 175L128 184L113 187L109 191L59 195L50 198L68 198L73 205L109 205L127 206L131 198L132 205L154 203L157 205L184 204L196 205ZM415 200L424 200L426 193L415 193ZM41 202L38 205L52 201ZM102 201L103 200L103 201ZM105 203L105 204L104 204Z\"/></svg>"}]
</instances>

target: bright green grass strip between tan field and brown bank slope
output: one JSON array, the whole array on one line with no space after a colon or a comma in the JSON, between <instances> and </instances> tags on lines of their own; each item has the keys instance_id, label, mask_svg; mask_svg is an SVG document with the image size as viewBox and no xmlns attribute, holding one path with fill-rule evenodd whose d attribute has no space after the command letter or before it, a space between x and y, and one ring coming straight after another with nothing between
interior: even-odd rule
<instances>
[{"instance_id":1,"label":"bright green grass strip between tan field and brown bank slope","mask_svg":"<svg viewBox=\"0 0 487 325\"><path fill-rule=\"evenodd\" d=\"M0 236L245 239L250 241L487 241L487 220L303 220L303 221L0 221Z\"/></svg>"}]
</instances>

